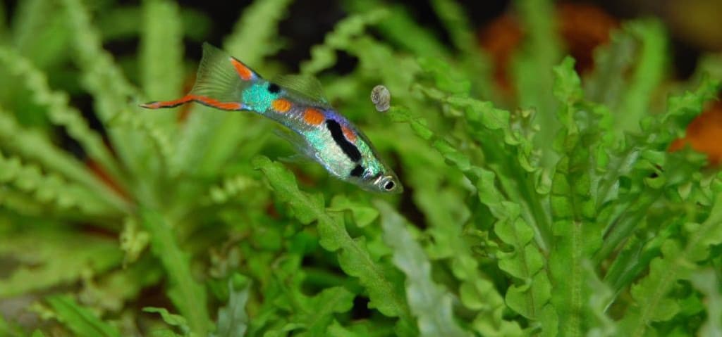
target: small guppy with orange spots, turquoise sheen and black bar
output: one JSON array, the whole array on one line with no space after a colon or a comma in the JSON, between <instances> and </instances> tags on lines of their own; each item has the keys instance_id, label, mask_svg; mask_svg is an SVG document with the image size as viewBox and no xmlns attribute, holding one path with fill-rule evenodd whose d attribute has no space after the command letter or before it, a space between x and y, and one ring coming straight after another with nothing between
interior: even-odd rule
<instances>
[{"instance_id":1,"label":"small guppy with orange spots, turquoise sheen and black bar","mask_svg":"<svg viewBox=\"0 0 722 337\"><path fill-rule=\"evenodd\" d=\"M396 174L366 136L328 103L315 78L281 76L268 81L222 50L204 43L191 92L141 107L172 108L197 102L222 110L248 110L288 127L287 139L332 175L374 192L400 193Z\"/></svg>"}]
</instances>

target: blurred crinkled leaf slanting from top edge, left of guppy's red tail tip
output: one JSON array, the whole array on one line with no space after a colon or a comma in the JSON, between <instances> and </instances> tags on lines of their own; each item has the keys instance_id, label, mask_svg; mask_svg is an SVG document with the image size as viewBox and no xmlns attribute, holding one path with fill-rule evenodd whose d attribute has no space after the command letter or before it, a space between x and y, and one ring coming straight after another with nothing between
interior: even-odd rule
<instances>
[{"instance_id":1,"label":"blurred crinkled leaf slanting from top edge, left of guppy's red tail tip","mask_svg":"<svg viewBox=\"0 0 722 337\"><path fill-rule=\"evenodd\" d=\"M82 71L82 85L94 98L94 107L100 122L106 123L114 150L126 168L147 179L135 181L136 189L149 189L155 179L149 179L161 171L173 168L168 162L175 152L168 130L136 114L142 111L136 104L130 104L141 95L113 61L110 53L103 49L100 32L90 20L90 13L82 1L61 1L73 32L71 48L74 62ZM159 112L168 113L168 112ZM143 158L143 160L139 160ZM143 172L143 173L141 173ZM149 176L149 174L151 174ZM153 195L145 194L146 199ZM148 200L157 202L157 200Z\"/></svg>"}]
</instances>

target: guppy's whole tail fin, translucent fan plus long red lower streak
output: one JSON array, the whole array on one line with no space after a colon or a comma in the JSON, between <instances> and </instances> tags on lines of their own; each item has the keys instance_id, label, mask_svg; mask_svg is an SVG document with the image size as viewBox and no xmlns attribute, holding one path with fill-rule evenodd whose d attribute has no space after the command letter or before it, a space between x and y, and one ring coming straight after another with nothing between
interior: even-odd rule
<instances>
[{"instance_id":1,"label":"guppy's whole tail fin, translucent fan plus long red lower streak","mask_svg":"<svg viewBox=\"0 0 722 337\"><path fill-rule=\"evenodd\" d=\"M173 101L141 104L148 109L178 107L188 102L197 102L222 110L243 110L241 101L243 89L258 81L261 76L240 60L208 42L203 44L203 58L196 73L196 83L186 96Z\"/></svg>"}]
</instances>

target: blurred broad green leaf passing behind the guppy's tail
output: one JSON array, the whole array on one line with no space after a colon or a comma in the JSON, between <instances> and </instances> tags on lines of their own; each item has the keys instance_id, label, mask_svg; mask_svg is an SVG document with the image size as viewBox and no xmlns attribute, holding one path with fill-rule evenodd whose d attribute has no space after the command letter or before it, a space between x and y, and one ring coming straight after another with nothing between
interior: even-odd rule
<instances>
[{"instance_id":1,"label":"blurred broad green leaf passing behind the guppy's tail","mask_svg":"<svg viewBox=\"0 0 722 337\"><path fill-rule=\"evenodd\" d=\"M251 68L264 73L262 61L282 47L282 40L275 33L290 5L290 0L254 1L245 9L235 24L233 32L223 43L224 49ZM208 107L193 107L186 126L178 137L178 151L171 161L173 173L216 173L236 153L247 153L246 158L256 155L248 143L263 145L269 138L269 128L259 127L260 117L239 112L217 111ZM187 197L192 199L189 192Z\"/></svg>"}]
</instances>

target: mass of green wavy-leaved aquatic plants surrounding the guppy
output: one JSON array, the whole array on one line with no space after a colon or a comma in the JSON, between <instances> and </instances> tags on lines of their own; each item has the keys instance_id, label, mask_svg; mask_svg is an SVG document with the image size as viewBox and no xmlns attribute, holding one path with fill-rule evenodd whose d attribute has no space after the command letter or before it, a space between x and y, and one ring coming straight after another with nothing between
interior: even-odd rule
<instances>
[{"instance_id":1,"label":"mass of green wavy-leaved aquatic plants surrounding the guppy","mask_svg":"<svg viewBox=\"0 0 722 337\"><path fill-rule=\"evenodd\" d=\"M255 1L223 47L284 72L290 2ZM183 93L202 14L19 1L0 22L0 335L720 336L722 175L666 149L718 94L721 59L670 86L664 27L638 20L580 78L552 4L517 0L510 102L463 11L430 2L450 45L349 0L300 67L391 159L406 193L382 197L269 159L292 147L253 114L137 107ZM137 55L103 49L132 37ZM339 50L358 59L343 76Z\"/></svg>"}]
</instances>

